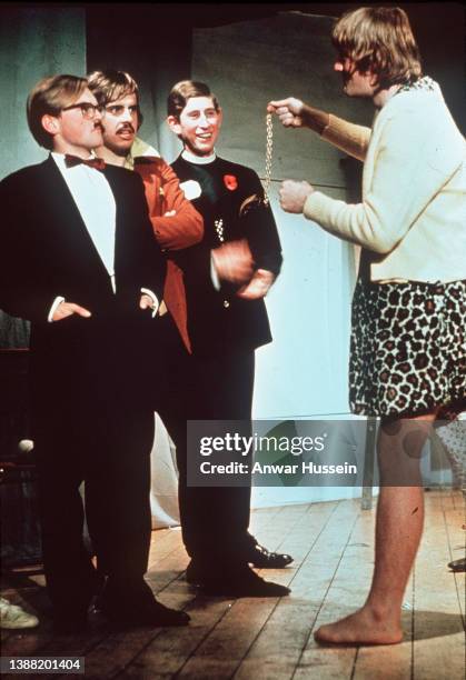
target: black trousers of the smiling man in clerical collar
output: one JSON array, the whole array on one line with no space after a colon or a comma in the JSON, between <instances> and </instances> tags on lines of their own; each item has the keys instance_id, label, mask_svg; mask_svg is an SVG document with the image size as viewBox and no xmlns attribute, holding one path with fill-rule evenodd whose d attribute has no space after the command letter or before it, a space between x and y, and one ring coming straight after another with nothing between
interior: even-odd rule
<instances>
[{"instance_id":1,"label":"black trousers of the smiling man in clerical collar","mask_svg":"<svg viewBox=\"0 0 466 680\"><path fill-rule=\"evenodd\" d=\"M241 420L251 418L254 351L189 358L187 416L191 420ZM179 506L185 547L200 562L215 558L228 563L246 559L254 544L248 533L250 487L205 488L188 484L185 440L177 443Z\"/></svg>"}]
</instances>

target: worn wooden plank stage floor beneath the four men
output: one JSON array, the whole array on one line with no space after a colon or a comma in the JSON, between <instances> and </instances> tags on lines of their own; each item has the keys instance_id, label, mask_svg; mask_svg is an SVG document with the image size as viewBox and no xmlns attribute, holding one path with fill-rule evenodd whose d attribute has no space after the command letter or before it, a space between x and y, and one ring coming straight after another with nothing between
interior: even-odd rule
<instances>
[{"instance_id":1,"label":"worn wooden plank stage floor beneath the four men","mask_svg":"<svg viewBox=\"0 0 466 680\"><path fill-rule=\"evenodd\" d=\"M318 626L364 602L373 570L375 511L344 500L254 511L259 541L295 557L288 569L261 572L290 586L291 594L280 600L197 594L184 580L188 558L179 529L153 532L148 581L163 603L190 613L186 628L117 633L95 616L86 634L53 636L41 613L43 577L3 576L2 596L42 620L36 630L2 631L2 656L85 657L86 678L96 680L464 680L465 574L447 569L464 557L464 499L459 492L427 491L426 504L401 644L335 649L314 641Z\"/></svg>"}]
</instances>

